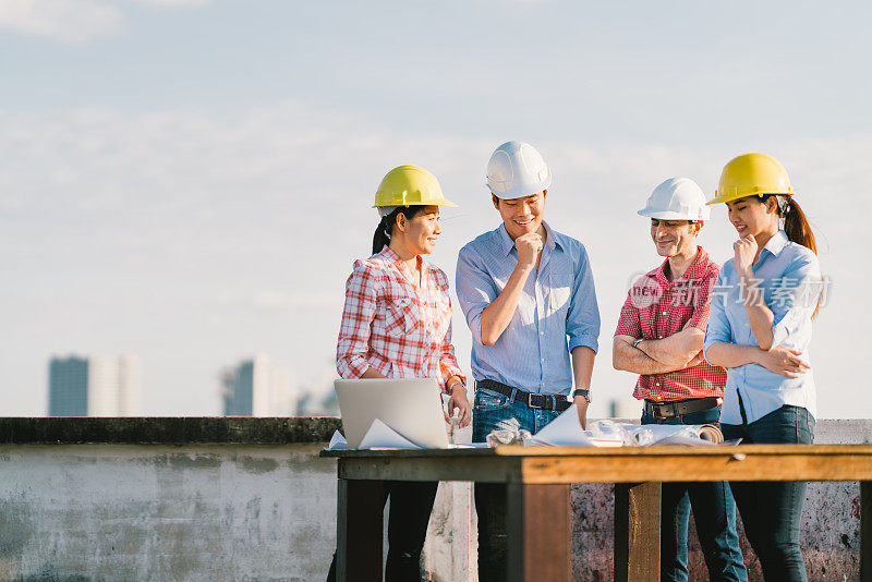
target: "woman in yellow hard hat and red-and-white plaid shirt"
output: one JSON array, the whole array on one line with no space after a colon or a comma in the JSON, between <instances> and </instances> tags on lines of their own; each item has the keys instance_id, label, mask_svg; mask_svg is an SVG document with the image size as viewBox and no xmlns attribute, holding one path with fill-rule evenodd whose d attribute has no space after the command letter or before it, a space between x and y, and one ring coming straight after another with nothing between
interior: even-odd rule
<instances>
[{"instance_id":1,"label":"woman in yellow hard hat and red-and-white plaid shirt","mask_svg":"<svg viewBox=\"0 0 872 582\"><path fill-rule=\"evenodd\" d=\"M457 409L460 426L467 426L472 409L451 344L448 277L422 258L433 252L441 232L439 206L457 205L423 168L400 166L382 180L375 195L382 220L373 237L373 255L354 263L346 283L336 367L343 378L436 378L450 395L449 412ZM437 485L387 484L386 580L420 579ZM328 580L335 579L335 570L334 557Z\"/></svg>"}]
</instances>

